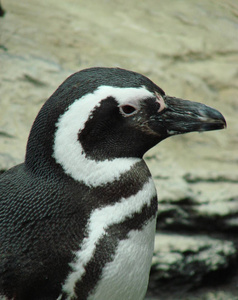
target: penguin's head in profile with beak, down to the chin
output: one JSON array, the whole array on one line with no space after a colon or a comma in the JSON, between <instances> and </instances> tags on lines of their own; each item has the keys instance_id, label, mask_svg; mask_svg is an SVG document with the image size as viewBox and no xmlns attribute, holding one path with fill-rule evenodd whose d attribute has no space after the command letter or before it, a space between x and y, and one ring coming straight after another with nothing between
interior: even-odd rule
<instances>
[{"instance_id":1,"label":"penguin's head in profile with beak, down to the chin","mask_svg":"<svg viewBox=\"0 0 238 300\"><path fill-rule=\"evenodd\" d=\"M147 77L118 68L71 75L46 101L32 126L26 164L61 156L93 161L142 158L165 138L225 127L204 104L167 96Z\"/></svg>"}]
</instances>

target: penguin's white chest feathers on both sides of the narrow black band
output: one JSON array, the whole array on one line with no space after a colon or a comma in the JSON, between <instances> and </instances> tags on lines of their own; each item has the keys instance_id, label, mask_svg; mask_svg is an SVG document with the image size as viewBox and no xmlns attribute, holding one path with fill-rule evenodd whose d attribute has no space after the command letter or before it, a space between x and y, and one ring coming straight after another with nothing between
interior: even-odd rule
<instances>
[{"instance_id":1,"label":"penguin's white chest feathers on both sides of the narrow black band","mask_svg":"<svg viewBox=\"0 0 238 300\"><path fill-rule=\"evenodd\" d=\"M75 286L87 273L87 265L97 251L100 239L110 226L120 224L142 213L143 207L152 207L156 190L150 178L141 190L128 198L92 212L88 222L88 235L75 253L70 264L72 272L63 285L67 299L75 299ZM156 209L156 205L155 205ZM154 216L154 217L153 217ZM112 260L105 262L96 285L87 295L87 300L140 300L146 292L155 236L155 211L139 230L131 228L116 246ZM103 251L103 250L102 250ZM80 293L78 291L77 293ZM59 298L60 299L60 298Z\"/></svg>"}]
</instances>

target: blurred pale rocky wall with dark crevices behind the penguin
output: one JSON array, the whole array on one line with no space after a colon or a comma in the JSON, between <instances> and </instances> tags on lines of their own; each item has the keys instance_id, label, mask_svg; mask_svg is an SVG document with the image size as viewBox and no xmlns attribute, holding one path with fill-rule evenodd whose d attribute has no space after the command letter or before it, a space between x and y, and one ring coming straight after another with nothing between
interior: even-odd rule
<instances>
[{"instance_id":1,"label":"blurred pale rocky wall with dark crevices behind the penguin","mask_svg":"<svg viewBox=\"0 0 238 300\"><path fill-rule=\"evenodd\" d=\"M1 172L23 161L40 107L79 69L131 69L224 114L226 130L173 137L145 157L159 196L147 299L238 299L237 0L3 0L2 7Z\"/></svg>"}]
</instances>

